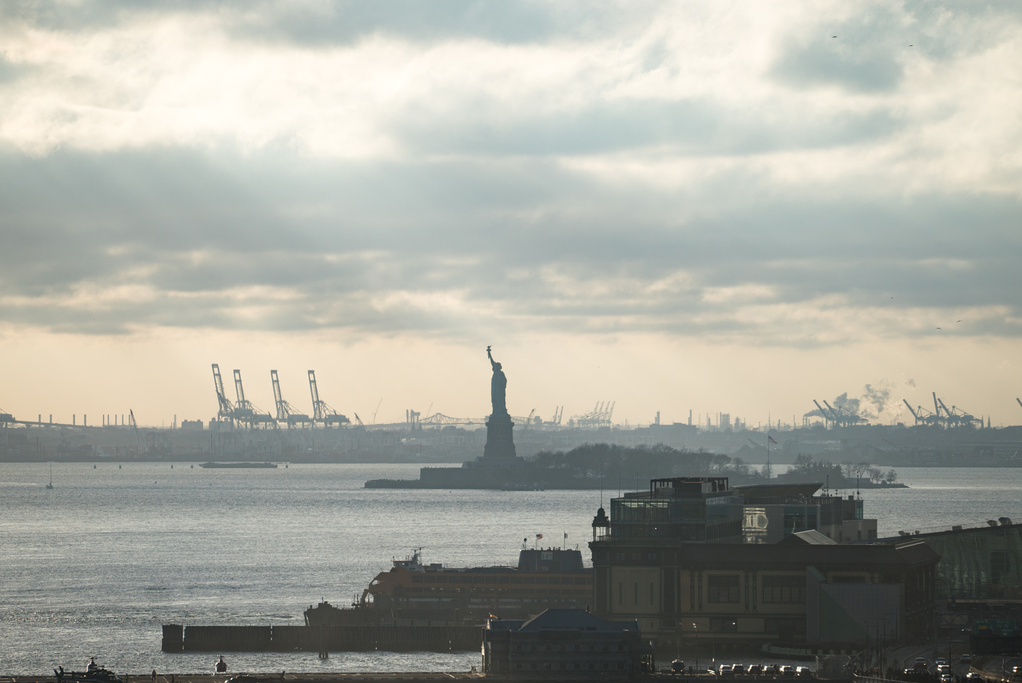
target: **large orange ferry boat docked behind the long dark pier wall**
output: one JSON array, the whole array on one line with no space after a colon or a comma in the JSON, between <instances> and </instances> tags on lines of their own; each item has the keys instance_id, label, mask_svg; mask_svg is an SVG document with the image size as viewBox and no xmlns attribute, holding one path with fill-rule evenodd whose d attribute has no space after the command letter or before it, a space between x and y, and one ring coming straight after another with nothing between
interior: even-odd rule
<instances>
[{"instance_id":1,"label":"large orange ferry boat docked behind the long dark pier wall","mask_svg":"<svg viewBox=\"0 0 1022 683\"><path fill-rule=\"evenodd\" d=\"M450 567L423 563L418 548L393 559L388 572L376 575L357 598L355 610L327 602L306 611L310 626L350 623L362 618L461 624L484 620L525 619L550 607L586 608L593 604L593 570L583 564L582 551L522 548L517 566ZM345 613L346 612L346 613Z\"/></svg>"}]
</instances>

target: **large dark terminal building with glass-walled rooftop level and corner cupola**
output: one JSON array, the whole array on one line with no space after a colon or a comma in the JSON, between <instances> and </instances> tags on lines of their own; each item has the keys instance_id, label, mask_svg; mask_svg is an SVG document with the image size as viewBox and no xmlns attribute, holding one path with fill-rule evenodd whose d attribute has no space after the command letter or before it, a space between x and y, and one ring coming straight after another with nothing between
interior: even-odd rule
<instances>
[{"instance_id":1,"label":"large dark terminal building with glass-walled rooftop level and corner cupola","mask_svg":"<svg viewBox=\"0 0 1022 683\"><path fill-rule=\"evenodd\" d=\"M610 518L601 508L590 544L595 613L637 620L668 646L697 633L722 647L862 647L880 628L901 639L932 633L938 555L925 543L839 544L807 522L790 542L742 543L744 509L726 480L653 480L614 499Z\"/></svg>"}]
</instances>

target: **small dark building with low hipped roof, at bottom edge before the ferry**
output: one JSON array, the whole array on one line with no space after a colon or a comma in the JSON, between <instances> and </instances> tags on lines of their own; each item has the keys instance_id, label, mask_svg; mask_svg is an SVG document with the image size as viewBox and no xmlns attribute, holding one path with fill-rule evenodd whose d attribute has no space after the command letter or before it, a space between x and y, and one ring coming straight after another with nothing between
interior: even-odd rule
<instances>
[{"instance_id":1,"label":"small dark building with low hipped roof, at bottom edge before the ferry","mask_svg":"<svg viewBox=\"0 0 1022 683\"><path fill-rule=\"evenodd\" d=\"M526 621L490 619L482 632L484 674L623 680L652 664L652 648L635 620L605 621L586 609L547 609Z\"/></svg>"}]
</instances>

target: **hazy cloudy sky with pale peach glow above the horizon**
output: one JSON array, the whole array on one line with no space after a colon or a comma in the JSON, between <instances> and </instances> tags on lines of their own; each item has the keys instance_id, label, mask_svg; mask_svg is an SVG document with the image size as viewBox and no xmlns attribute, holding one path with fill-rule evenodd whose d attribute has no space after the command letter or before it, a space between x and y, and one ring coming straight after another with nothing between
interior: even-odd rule
<instances>
[{"instance_id":1,"label":"hazy cloudy sky with pale peach glow above the horizon","mask_svg":"<svg viewBox=\"0 0 1022 683\"><path fill-rule=\"evenodd\" d=\"M1017 2L5 2L0 409L1022 421ZM875 395L875 394L874 394ZM864 405L866 402L864 402ZM876 412L876 411L874 411ZM904 418L904 411L901 413Z\"/></svg>"}]
</instances>

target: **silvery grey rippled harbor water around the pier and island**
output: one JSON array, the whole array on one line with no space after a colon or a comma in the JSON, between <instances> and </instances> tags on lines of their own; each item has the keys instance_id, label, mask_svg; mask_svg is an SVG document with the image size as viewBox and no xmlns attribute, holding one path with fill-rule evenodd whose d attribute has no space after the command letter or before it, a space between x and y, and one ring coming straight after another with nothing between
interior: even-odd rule
<instances>
[{"instance_id":1,"label":"silvery grey rippled harbor water around the pier and island","mask_svg":"<svg viewBox=\"0 0 1022 683\"><path fill-rule=\"evenodd\" d=\"M1022 468L901 468L910 489L862 493L880 535L1022 519ZM301 624L344 605L392 556L513 564L522 539L584 550L599 491L363 489L417 465L201 469L188 463L0 463L0 675L96 656L115 671L208 672L165 654L160 625ZM847 493L847 492L844 492ZM604 494L605 500L616 495ZM567 540L564 541L564 534ZM232 671L467 671L478 652L232 653ZM736 659L741 662L742 659Z\"/></svg>"}]
</instances>

